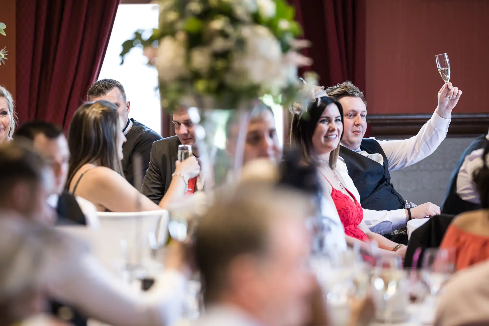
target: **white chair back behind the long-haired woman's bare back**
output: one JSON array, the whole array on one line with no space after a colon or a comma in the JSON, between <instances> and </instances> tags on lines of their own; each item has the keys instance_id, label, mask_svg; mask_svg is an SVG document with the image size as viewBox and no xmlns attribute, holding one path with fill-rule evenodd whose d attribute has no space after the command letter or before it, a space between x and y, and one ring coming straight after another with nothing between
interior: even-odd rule
<instances>
[{"instance_id":1,"label":"white chair back behind the long-haired woman's bare back","mask_svg":"<svg viewBox=\"0 0 489 326\"><path fill-rule=\"evenodd\" d=\"M164 245L168 234L168 211L97 212L100 231L115 238L129 265L141 266L151 259L152 249Z\"/></svg>"}]
</instances>

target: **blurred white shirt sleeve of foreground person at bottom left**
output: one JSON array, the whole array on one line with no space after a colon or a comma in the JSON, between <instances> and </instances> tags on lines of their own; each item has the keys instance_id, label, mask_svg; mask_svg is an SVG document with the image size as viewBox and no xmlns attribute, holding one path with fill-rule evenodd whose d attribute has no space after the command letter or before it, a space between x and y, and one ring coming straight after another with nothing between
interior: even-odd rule
<instances>
[{"instance_id":1,"label":"blurred white shirt sleeve of foreground person at bottom left","mask_svg":"<svg viewBox=\"0 0 489 326\"><path fill-rule=\"evenodd\" d=\"M67 262L69 273L48 285L52 298L72 305L89 318L119 326L170 325L182 314L185 277L165 271L148 292L133 290L84 254ZM71 264L69 264L71 263Z\"/></svg>"}]
</instances>

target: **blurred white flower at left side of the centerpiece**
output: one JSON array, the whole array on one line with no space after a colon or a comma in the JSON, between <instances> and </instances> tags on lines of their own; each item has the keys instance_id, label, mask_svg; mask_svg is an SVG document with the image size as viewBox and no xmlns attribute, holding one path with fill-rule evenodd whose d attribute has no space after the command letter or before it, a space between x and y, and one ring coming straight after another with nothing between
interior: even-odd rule
<instances>
[{"instance_id":1,"label":"blurred white flower at left side of the centerpiece","mask_svg":"<svg viewBox=\"0 0 489 326\"><path fill-rule=\"evenodd\" d=\"M160 40L156 66L161 81L170 83L189 75L185 64L185 46L186 35L183 32L178 32L176 38L166 36Z\"/></svg>"}]
</instances>

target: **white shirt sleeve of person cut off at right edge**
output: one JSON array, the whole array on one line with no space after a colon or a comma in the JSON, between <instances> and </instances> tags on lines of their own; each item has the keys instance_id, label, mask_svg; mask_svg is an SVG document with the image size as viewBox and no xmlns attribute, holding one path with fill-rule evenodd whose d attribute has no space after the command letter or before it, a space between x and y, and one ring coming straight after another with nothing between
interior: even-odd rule
<instances>
[{"instance_id":1,"label":"white shirt sleeve of person cut off at right edge","mask_svg":"<svg viewBox=\"0 0 489 326\"><path fill-rule=\"evenodd\" d=\"M484 149L481 148L467 155L457 176L457 194L462 200L474 204L480 204L481 200L475 189L475 183L472 180L472 176L475 171L479 170L484 165L484 161L482 160L483 154Z\"/></svg>"}]
</instances>

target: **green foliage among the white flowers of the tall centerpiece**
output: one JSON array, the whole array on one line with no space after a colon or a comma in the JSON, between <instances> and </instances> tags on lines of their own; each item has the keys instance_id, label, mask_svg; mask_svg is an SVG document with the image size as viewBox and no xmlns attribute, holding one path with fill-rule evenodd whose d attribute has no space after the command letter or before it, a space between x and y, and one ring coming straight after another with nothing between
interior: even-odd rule
<instances>
[{"instance_id":1,"label":"green foliage among the white flowers of the tall centerpiece","mask_svg":"<svg viewBox=\"0 0 489 326\"><path fill-rule=\"evenodd\" d=\"M249 9L250 3L253 7L253 0L159 0L158 29L154 29L148 39L142 37L142 30L135 31L133 38L122 44L121 64L133 47L157 47L159 40L171 37L171 40L185 47L183 62L188 73L179 75L175 80L160 80L163 106L172 109L179 105L184 96L210 96L220 108L229 109L264 93L272 93L277 102L287 104L292 101L300 84L289 82L286 87L274 90L273 93L264 85L243 82L238 87L238 83L229 81L235 55L245 49L244 36L241 34L243 26L267 27L284 54L293 50L291 41L302 35L302 28L295 21L294 8L286 0L271 1L275 14L267 16L260 10ZM254 4L260 9L257 3ZM182 33L183 41L176 37ZM200 61L203 60L201 66L204 69L192 64L196 49L212 49L208 57L204 55L207 54L205 51L196 55ZM236 79L240 81L240 76L236 76Z\"/></svg>"}]
</instances>

